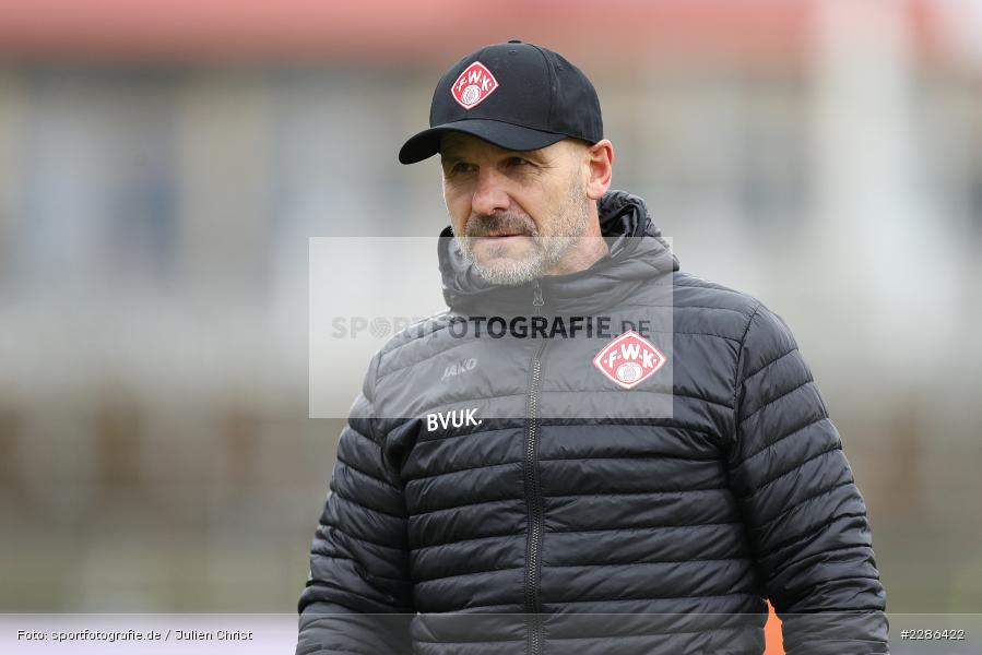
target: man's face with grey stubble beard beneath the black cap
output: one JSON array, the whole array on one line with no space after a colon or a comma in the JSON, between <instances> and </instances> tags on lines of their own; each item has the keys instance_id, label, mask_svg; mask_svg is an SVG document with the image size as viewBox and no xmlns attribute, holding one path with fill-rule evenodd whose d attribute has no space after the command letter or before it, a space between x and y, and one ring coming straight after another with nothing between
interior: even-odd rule
<instances>
[{"instance_id":1,"label":"man's face with grey stubble beard beneath the black cap","mask_svg":"<svg viewBox=\"0 0 982 655\"><path fill-rule=\"evenodd\" d=\"M517 285L563 272L591 223L584 153L572 140L507 151L470 134L442 136L453 234L488 282Z\"/></svg>"}]
</instances>

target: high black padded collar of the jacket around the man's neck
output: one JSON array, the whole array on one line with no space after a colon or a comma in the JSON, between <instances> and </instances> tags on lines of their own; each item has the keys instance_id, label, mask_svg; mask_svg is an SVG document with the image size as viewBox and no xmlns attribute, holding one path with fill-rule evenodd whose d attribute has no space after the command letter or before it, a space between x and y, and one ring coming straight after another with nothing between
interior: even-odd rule
<instances>
[{"instance_id":1,"label":"high black padded collar of the jacket around the man's neck","mask_svg":"<svg viewBox=\"0 0 982 655\"><path fill-rule=\"evenodd\" d=\"M447 226L438 245L447 307L465 314L529 313L537 287L544 313L589 313L615 306L640 285L678 270L678 259L637 195L608 191L600 201L599 218L610 246L607 254L583 271L545 275L518 286L485 281L464 258Z\"/></svg>"}]
</instances>

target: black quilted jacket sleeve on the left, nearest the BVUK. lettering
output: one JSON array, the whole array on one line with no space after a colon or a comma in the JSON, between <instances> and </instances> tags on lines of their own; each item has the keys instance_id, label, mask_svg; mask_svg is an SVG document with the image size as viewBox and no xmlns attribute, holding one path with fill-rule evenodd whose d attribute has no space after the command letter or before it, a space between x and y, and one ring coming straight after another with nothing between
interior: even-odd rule
<instances>
[{"instance_id":1,"label":"black quilted jacket sleeve on the left, nearest the BVUK. lettering","mask_svg":"<svg viewBox=\"0 0 982 655\"><path fill-rule=\"evenodd\" d=\"M341 432L298 604L297 655L411 652L406 512L376 434L377 366L376 357Z\"/></svg>"}]
</instances>

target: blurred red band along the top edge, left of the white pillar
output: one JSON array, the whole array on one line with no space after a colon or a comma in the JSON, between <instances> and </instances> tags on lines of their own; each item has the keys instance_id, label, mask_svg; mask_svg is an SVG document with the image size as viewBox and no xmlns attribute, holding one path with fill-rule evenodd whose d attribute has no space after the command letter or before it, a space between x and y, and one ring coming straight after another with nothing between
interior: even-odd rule
<instances>
[{"instance_id":1,"label":"blurred red band along the top edge, left of the white pillar","mask_svg":"<svg viewBox=\"0 0 982 655\"><path fill-rule=\"evenodd\" d=\"M592 59L698 51L795 58L812 0L31 0L0 10L0 52L196 60L446 60L522 38ZM493 8L493 11L490 10ZM517 28L516 16L521 17Z\"/></svg>"}]
</instances>

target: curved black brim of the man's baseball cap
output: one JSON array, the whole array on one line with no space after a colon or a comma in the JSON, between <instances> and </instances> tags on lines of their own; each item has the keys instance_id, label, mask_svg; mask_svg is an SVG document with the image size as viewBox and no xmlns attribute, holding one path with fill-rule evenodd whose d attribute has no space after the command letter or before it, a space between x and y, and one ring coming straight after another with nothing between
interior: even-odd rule
<instances>
[{"instance_id":1,"label":"curved black brim of the man's baseball cap","mask_svg":"<svg viewBox=\"0 0 982 655\"><path fill-rule=\"evenodd\" d=\"M440 152L440 136L447 132L472 134L498 147L513 151L539 150L566 139L566 134L543 132L499 120L471 118L436 126L410 138L399 151L399 160L402 164L415 164L431 157Z\"/></svg>"}]
</instances>

